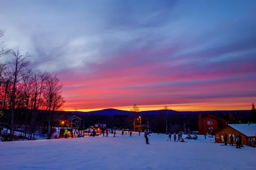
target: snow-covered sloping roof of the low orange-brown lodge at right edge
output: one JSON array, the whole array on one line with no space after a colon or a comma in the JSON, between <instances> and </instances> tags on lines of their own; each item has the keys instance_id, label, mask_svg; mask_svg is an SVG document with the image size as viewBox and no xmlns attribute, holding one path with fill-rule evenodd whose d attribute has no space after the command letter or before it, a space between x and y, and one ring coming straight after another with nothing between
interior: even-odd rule
<instances>
[{"instance_id":1,"label":"snow-covered sloping roof of the low orange-brown lodge at right edge","mask_svg":"<svg viewBox=\"0 0 256 170\"><path fill-rule=\"evenodd\" d=\"M248 124L229 124L228 126L243 133L247 137L256 136L256 123Z\"/></svg>"}]
</instances>

